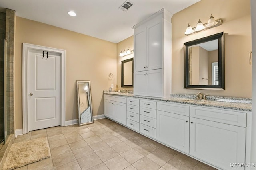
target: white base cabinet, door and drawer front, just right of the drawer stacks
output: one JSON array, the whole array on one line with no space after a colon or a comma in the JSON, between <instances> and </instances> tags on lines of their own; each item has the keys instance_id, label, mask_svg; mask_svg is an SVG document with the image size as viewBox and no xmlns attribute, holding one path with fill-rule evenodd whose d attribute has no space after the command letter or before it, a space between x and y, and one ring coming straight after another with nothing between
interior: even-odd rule
<instances>
[{"instance_id":1,"label":"white base cabinet, door and drawer front, just right of the drawer stacks","mask_svg":"<svg viewBox=\"0 0 256 170\"><path fill-rule=\"evenodd\" d=\"M156 139L188 153L189 106L157 102L156 109Z\"/></svg>"}]
</instances>

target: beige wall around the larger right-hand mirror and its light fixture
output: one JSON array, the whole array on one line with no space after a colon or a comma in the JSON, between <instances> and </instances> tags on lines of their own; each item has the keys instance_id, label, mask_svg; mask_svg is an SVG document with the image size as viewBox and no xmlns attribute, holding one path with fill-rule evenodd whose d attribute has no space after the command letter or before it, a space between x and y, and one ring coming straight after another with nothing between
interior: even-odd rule
<instances>
[{"instance_id":1,"label":"beige wall around the larger right-hand mirror and its light fixture","mask_svg":"<svg viewBox=\"0 0 256 170\"><path fill-rule=\"evenodd\" d=\"M213 15L223 24L193 35L184 32L188 23L196 26L199 19L206 23ZM225 90L183 89L183 43L225 33ZM250 0L202 0L172 16L172 93L213 96L252 97L252 66L248 52L251 49ZM175 71L174 71L175 70Z\"/></svg>"}]
</instances>

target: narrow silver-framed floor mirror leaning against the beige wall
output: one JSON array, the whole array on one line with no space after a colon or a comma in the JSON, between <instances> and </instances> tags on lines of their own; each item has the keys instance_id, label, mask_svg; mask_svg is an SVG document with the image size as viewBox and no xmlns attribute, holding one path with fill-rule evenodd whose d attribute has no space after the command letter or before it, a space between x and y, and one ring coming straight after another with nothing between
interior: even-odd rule
<instances>
[{"instance_id":1,"label":"narrow silver-framed floor mirror leaning against the beige wall","mask_svg":"<svg viewBox=\"0 0 256 170\"><path fill-rule=\"evenodd\" d=\"M79 126L93 123L90 81L76 80L76 91Z\"/></svg>"}]
</instances>

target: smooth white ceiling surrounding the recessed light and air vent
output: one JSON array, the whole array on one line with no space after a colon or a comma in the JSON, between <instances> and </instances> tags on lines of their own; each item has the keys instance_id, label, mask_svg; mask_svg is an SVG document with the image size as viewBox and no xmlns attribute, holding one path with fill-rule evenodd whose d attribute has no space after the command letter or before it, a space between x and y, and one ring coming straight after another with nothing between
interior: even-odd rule
<instances>
[{"instance_id":1,"label":"smooth white ceiling surrounding the recessed light and air vent","mask_svg":"<svg viewBox=\"0 0 256 170\"><path fill-rule=\"evenodd\" d=\"M16 16L68 29L113 43L133 35L132 26L165 8L172 14L200 0L131 0L126 12L118 9L125 0L1 0L0 10ZM73 10L76 16L68 15Z\"/></svg>"}]
</instances>

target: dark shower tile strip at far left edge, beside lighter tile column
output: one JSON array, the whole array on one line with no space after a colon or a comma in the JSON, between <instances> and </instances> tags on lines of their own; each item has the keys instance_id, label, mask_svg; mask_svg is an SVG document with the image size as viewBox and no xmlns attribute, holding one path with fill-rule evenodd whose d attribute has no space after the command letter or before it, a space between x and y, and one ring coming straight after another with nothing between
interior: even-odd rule
<instances>
[{"instance_id":1,"label":"dark shower tile strip at far left edge, beside lighter tile column","mask_svg":"<svg viewBox=\"0 0 256 170\"><path fill-rule=\"evenodd\" d=\"M0 12L0 140L4 138L4 39L6 13Z\"/></svg>"}]
</instances>

